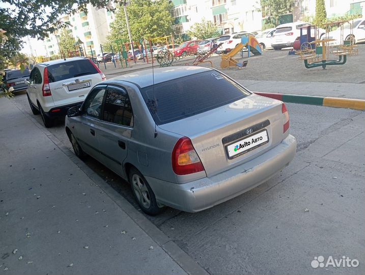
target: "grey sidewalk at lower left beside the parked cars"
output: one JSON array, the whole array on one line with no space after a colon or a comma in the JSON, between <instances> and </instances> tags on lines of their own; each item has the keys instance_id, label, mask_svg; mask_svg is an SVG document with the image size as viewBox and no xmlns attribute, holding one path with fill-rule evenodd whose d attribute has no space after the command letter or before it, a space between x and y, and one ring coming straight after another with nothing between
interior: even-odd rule
<instances>
[{"instance_id":1,"label":"grey sidewalk at lower left beside the parked cars","mask_svg":"<svg viewBox=\"0 0 365 275\"><path fill-rule=\"evenodd\" d=\"M0 118L0 274L206 273L5 97Z\"/></svg>"}]
</instances>

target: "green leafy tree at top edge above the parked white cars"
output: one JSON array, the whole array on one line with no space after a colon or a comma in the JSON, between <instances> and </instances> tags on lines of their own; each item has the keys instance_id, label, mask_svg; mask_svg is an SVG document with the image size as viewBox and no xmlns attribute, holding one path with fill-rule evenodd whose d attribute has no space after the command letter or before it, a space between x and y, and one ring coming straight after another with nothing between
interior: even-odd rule
<instances>
[{"instance_id":1,"label":"green leafy tree at top edge above the parked white cars","mask_svg":"<svg viewBox=\"0 0 365 275\"><path fill-rule=\"evenodd\" d=\"M277 26L281 15L293 12L294 0L261 0L262 17L265 18L265 24Z\"/></svg>"}]
</instances>

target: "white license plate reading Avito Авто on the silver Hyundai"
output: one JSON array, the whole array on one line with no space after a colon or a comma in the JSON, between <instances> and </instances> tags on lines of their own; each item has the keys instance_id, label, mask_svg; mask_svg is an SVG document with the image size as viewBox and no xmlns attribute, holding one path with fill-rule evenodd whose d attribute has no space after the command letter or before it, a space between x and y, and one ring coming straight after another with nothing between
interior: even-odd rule
<instances>
[{"instance_id":1,"label":"white license plate reading Avito \u0410\u0432\u0442\u043e on the silver Hyundai","mask_svg":"<svg viewBox=\"0 0 365 275\"><path fill-rule=\"evenodd\" d=\"M238 155L254 150L261 145L269 142L267 130L245 137L244 139L228 145L227 152L229 158L234 158Z\"/></svg>"}]
</instances>

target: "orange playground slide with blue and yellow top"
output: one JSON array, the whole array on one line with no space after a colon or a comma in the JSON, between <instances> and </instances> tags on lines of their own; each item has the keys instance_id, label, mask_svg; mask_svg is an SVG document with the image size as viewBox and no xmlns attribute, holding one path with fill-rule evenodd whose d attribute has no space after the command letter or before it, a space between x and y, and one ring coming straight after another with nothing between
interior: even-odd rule
<instances>
[{"instance_id":1,"label":"orange playground slide with blue and yellow top","mask_svg":"<svg viewBox=\"0 0 365 275\"><path fill-rule=\"evenodd\" d=\"M220 62L220 67L238 67L244 68L247 66L248 61L238 62L233 57L240 52L244 47L248 49L248 52L252 52L255 55L262 54L262 49L260 43L252 35L244 35L241 38L241 43L239 43L233 50L227 54L221 54L222 61Z\"/></svg>"}]
</instances>

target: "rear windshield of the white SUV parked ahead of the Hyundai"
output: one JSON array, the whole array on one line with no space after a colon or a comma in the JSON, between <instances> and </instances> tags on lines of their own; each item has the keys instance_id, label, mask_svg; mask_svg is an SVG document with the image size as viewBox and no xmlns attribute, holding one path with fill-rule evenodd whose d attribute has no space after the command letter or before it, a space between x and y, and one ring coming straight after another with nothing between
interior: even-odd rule
<instances>
[{"instance_id":1,"label":"rear windshield of the white SUV parked ahead of the Hyundai","mask_svg":"<svg viewBox=\"0 0 365 275\"><path fill-rule=\"evenodd\" d=\"M88 59L50 65L47 67L47 69L48 80L50 83L81 75L98 73L98 71Z\"/></svg>"}]
</instances>

